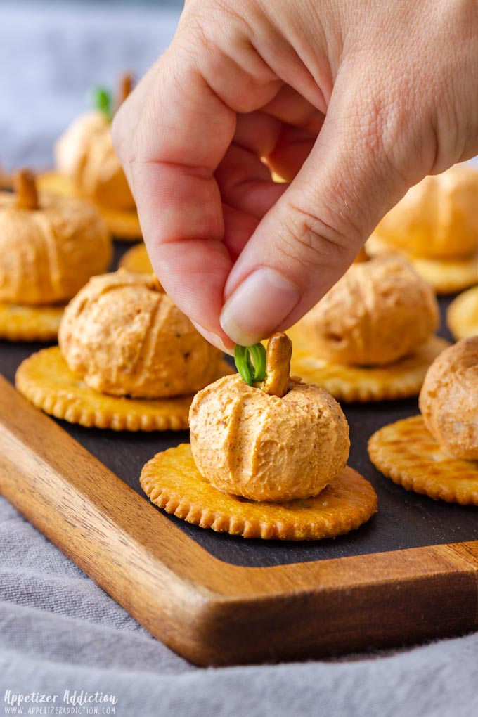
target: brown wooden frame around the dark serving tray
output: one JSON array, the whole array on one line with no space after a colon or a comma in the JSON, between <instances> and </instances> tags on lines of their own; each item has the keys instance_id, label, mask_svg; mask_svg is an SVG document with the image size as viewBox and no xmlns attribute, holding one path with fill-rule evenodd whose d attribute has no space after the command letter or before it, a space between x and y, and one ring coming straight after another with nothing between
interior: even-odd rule
<instances>
[{"instance_id":1,"label":"brown wooden frame around the dark serving tray","mask_svg":"<svg viewBox=\"0 0 478 717\"><path fill-rule=\"evenodd\" d=\"M300 659L478 626L478 541L264 568L211 556L0 376L0 493L198 665Z\"/></svg>"}]
</instances>

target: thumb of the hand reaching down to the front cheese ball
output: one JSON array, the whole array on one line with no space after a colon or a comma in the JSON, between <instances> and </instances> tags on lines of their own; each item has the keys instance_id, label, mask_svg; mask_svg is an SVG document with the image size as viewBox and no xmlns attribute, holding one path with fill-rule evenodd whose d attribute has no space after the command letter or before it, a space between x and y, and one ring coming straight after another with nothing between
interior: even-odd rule
<instances>
[{"instance_id":1,"label":"thumb of the hand reaching down to the front cheese ball","mask_svg":"<svg viewBox=\"0 0 478 717\"><path fill-rule=\"evenodd\" d=\"M229 274L221 326L236 343L283 331L312 308L408 189L388 151L396 147L400 116L388 118L375 100L360 106L360 92L347 97L339 90L337 80L310 155Z\"/></svg>"}]
</instances>

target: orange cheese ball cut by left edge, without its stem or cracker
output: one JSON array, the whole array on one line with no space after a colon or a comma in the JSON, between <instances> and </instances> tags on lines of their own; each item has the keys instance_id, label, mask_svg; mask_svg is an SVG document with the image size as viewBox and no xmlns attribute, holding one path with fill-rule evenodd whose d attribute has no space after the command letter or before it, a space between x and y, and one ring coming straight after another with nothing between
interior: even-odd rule
<instances>
[{"instance_id":1,"label":"orange cheese ball cut by left edge, without its stem or cracker","mask_svg":"<svg viewBox=\"0 0 478 717\"><path fill-rule=\"evenodd\" d=\"M110 234L94 206L41 194L39 209L20 209L0 193L0 301L64 302L94 274L107 270Z\"/></svg>"}]
</instances>

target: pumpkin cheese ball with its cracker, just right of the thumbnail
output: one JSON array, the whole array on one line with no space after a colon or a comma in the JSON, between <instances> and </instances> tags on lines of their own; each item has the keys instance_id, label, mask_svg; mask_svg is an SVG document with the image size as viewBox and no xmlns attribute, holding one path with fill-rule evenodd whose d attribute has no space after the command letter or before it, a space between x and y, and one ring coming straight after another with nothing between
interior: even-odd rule
<instances>
[{"instance_id":1,"label":"pumpkin cheese ball with its cracker, just right of the thumbnail","mask_svg":"<svg viewBox=\"0 0 478 717\"><path fill-rule=\"evenodd\" d=\"M403 257L355 262L292 330L292 371L347 401L418 394L447 345L438 325L434 290Z\"/></svg>"}]
</instances>

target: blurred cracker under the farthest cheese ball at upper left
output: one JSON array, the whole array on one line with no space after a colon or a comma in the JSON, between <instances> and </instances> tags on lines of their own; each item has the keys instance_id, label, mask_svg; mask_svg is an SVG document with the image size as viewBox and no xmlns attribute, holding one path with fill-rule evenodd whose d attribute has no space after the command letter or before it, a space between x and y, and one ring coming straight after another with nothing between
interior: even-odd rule
<instances>
[{"instance_id":1,"label":"blurred cracker under the farthest cheese ball at upper left","mask_svg":"<svg viewBox=\"0 0 478 717\"><path fill-rule=\"evenodd\" d=\"M78 191L72 179L56 171L39 174L37 176L37 187L40 191L50 191L52 194L82 197L82 194ZM83 197L83 199L92 201L85 197ZM115 239L126 242L136 242L143 237L138 212L136 212L135 209L111 209L109 206L96 203L95 206L103 219L105 219L110 234L112 234Z\"/></svg>"}]
</instances>

